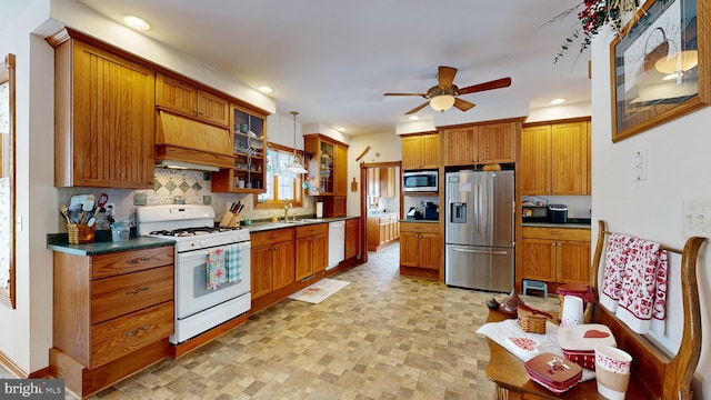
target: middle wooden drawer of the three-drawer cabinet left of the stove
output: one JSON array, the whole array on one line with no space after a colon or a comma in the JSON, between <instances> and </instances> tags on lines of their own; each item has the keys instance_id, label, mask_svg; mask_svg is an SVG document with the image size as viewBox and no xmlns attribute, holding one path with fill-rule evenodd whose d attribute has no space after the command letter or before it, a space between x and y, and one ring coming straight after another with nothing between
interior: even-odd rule
<instances>
[{"instance_id":1,"label":"middle wooden drawer of the three-drawer cabinet left of the stove","mask_svg":"<svg viewBox=\"0 0 711 400\"><path fill-rule=\"evenodd\" d=\"M91 282L91 323L173 299L173 266Z\"/></svg>"}]
</instances>

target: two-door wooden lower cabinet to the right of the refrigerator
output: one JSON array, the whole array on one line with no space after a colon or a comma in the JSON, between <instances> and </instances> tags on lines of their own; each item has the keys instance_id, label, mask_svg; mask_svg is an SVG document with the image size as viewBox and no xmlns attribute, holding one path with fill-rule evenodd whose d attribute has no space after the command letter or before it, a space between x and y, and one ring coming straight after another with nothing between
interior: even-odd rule
<instances>
[{"instance_id":1,"label":"two-door wooden lower cabinet to the right of the refrigerator","mask_svg":"<svg viewBox=\"0 0 711 400\"><path fill-rule=\"evenodd\" d=\"M522 237L521 279L590 284L590 229L523 227Z\"/></svg>"}]
</instances>

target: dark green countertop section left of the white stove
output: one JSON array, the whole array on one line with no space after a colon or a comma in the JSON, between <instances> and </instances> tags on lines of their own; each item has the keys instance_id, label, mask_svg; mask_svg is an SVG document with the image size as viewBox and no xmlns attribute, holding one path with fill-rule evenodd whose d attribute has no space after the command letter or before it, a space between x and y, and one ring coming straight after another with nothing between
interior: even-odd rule
<instances>
[{"instance_id":1,"label":"dark green countertop section left of the white stove","mask_svg":"<svg viewBox=\"0 0 711 400\"><path fill-rule=\"evenodd\" d=\"M92 256L114 251L137 250L152 247L168 246L176 242L173 239L157 237L136 237L134 231L129 240L111 241L110 231L97 231L94 241L83 244L70 244L67 233L49 233L47 236L47 248L52 251L60 251L76 256Z\"/></svg>"}]
</instances>

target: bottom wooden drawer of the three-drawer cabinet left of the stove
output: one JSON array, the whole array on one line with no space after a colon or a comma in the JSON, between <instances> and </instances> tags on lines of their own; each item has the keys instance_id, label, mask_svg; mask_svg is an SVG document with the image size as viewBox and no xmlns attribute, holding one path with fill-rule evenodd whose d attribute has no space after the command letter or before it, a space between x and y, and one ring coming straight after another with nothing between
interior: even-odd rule
<instances>
[{"instance_id":1,"label":"bottom wooden drawer of the three-drawer cabinet left of the stove","mask_svg":"<svg viewBox=\"0 0 711 400\"><path fill-rule=\"evenodd\" d=\"M168 338L172 331L172 301L96 324L91 327L89 368L103 366L149 343Z\"/></svg>"}]
</instances>

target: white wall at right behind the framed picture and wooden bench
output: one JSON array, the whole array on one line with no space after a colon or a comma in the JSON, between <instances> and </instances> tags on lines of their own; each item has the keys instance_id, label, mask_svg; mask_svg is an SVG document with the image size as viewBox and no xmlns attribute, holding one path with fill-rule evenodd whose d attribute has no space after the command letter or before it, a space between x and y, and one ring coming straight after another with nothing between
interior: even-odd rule
<instances>
[{"instance_id":1,"label":"white wall at right behind the framed picture and wooden bench","mask_svg":"<svg viewBox=\"0 0 711 400\"><path fill-rule=\"evenodd\" d=\"M707 32L708 34L708 32ZM609 229L682 248L682 206L685 199L711 199L711 109L704 108L687 117L652 128L612 143L610 111L609 40L601 36L592 47L592 217L608 221ZM600 82L599 84L594 84ZM648 153L648 180L634 180L633 156ZM593 238L597 229L593 224ZM701 249L699 287L701 291L702 330L711 334L711 257L708 244ZM672 261L668 291L667 336L658 338L675 351L681 340L679 258ZM695 378L698 398L711 398L711 358L704 339ZM700 394L700 396L699 396Z\"/></svg>"}]
</instances>

